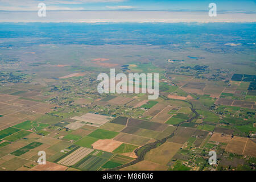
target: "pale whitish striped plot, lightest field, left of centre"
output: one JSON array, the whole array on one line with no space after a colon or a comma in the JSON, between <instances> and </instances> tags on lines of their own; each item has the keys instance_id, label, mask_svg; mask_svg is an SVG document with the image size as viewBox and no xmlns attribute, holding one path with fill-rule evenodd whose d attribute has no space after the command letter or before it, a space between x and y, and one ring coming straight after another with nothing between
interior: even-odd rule
<instances>
[{"instance_id":1,"label":"pale whitish striped plot, lightest field, left of centre","mask_svg":"<svg viewBox=\"0 0 256 182\"><path fill-rule=\"evenodd\" d=\"M106 115L100 115L100 114L92 114L92 113L86 113L82 116L75 116L71 119L75 119L78 121L83 121L83 122L89 122L89 123L94 123L98 125L104 125L106 122L108 122L112 117L106 116Z\"/></svg>"}]
</instances>

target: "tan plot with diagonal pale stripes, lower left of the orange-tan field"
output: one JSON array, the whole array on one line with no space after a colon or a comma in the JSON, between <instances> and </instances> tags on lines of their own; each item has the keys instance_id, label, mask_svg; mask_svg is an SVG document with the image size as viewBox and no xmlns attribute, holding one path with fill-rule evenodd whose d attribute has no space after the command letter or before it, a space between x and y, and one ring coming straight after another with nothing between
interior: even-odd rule
<instances>
[{"instance_id":1,"label":"tan plot with diagonal pale stripes, lower left of the orange-tan field","mask_svg":"<svg viewBox=\"0 0 256 182\"><path fill-rule=\"evenodd\" d=\"M94 150L91 148L80 147L68 156L65 156L65 158L59 160L59 162L57 163L64 166L73 166L74 164L79 162L79 160L89 155L92 151Z\"/></svg>"}]
</instances>

